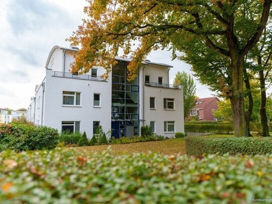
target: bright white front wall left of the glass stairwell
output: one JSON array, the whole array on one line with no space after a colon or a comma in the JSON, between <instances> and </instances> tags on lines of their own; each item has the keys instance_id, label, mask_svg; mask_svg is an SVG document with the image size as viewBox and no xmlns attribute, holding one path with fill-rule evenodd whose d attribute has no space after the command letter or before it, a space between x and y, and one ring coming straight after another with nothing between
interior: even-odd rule
<instances>
[{"instance_id":1,"label":"bright white front wall left of the glass stairwell","mask_svg":"<svg viewBox=\"0 0 272 204\"><path fill-rule=\"evenodd\" d=\"M43 125L62 129L62 121L80 121L80 131L93 135L93 121L103 130L111 129L111 82L52 77L46 70ZM63 106L63 91L81 93L81 106ZM101 107L93 107L94 93L100 93ZM37 100L37 99L36 99Z\"/></svg>"}]
</instances>

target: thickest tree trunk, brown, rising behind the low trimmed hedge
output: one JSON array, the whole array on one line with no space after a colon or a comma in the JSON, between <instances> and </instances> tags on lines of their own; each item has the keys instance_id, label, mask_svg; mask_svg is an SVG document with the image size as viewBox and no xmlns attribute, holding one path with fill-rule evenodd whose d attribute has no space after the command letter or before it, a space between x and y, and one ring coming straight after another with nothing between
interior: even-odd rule
<instances>
[{"instance_id":1,"label":"thickest tree trunk, brown, rising behind the low trimmed hedge","mask_svg":"<svg viewBox=\"0 0 272 204\"><path fill-rule=\"evenodd\" d=\"M231 59L231 86L230 103L232 109L234 136L248 137L243 100L243 60L238 55Z\"/></svg>"}]
</instances>

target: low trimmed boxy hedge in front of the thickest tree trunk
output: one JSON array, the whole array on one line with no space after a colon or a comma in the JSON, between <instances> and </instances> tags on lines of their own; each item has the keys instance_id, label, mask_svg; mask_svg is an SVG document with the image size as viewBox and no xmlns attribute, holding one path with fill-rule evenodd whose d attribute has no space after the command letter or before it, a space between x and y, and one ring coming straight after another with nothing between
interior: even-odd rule
<instances>
[{"instance_id":1,"label":"low trimmed boxy hedge in front of the thickest tree trunk","mask_svg":"<svg viewBox=\"0 0 272 204\"><path fill-rule=\"evenodd\" d=\"M271 138L189 136L185 138L185 145L188 155L272 153Z\"/></svg>"}]
</instances>

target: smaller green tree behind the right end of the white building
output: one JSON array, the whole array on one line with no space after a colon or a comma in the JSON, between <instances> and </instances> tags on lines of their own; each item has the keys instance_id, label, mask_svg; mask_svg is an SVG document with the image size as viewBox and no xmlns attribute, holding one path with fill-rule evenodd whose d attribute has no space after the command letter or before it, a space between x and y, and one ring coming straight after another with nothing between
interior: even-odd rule
<instances>
[{"instance_id":1,"label":"smaller green tree behind the right end of the white building","mask_svg":"<svg viewBox=\"0 0 272 204\"><path fill-rule=\"evenodd\" d=\"M190 110L194 107L196 102L195 96L195 84L193 77L186 72L177 72L174 78L174 84L183 86L183 109L184 119L190 113Z\"/></svg>"}]
</instances>

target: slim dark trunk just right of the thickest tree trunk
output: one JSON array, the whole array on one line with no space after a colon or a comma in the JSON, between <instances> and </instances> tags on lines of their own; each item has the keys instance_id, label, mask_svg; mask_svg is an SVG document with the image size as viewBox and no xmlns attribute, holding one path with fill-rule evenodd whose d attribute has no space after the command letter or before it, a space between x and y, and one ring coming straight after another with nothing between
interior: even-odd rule
<instances>
[{"instance_id":1,"label":"slim dark trunk just right of the thickest tree trunk","mask_svg":"<svg viewBox=\"0 0 272 204\"><path fill-rule=\"evenodd\" d=\"M248 109L247 109L247 114L245 115L245 122L246 122L246 129L248 131L248 136L252 136L250 134L250 127L249 127L249 122L250 122L250 117L252 115L252 110L253 110L253 98L252 98L252 93L250 90L250 83L248 79L248 75L246 73L246 69L243 69L243 75L244 75L244 83L245 83L245 88L247 91L247 98L248 98Z\"/></svg>"}]
</instances>

